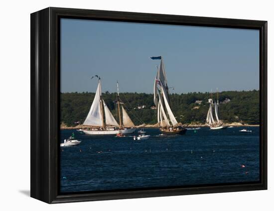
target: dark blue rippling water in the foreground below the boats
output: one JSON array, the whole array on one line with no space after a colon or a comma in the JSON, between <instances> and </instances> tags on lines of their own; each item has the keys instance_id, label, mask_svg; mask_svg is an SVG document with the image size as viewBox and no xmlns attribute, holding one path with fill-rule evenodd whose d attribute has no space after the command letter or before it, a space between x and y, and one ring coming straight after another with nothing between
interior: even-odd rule
<instances>
[{"instance_id":1,"label":"dark blue rippling water in the foreground below the boats","mask_svg":"<svg viewBox=\"0 0 274 211\"><path fill-rule=\"evenodd\" d=\"M140 141L61 130L61 142L74 132L82 143L60 149L60 191L259 181L259 127L250 127L252 133L240 129L201 128L186 135L159 136L158 129L145 128L151 137Z\"/></svg>"}]
</instances>

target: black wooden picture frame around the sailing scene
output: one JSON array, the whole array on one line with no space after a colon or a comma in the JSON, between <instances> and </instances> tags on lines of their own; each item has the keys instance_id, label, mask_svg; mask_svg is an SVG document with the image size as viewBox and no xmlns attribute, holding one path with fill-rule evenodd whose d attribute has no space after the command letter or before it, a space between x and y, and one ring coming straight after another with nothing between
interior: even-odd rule
<instances>
[{"instance_id":1,"label":"black wooden picture frame around the sailing scene","mask_svg":"<svg viewBox=\"0 0 274 211\"><path fill-rule=\"evenodd\" d=\"M260 182L97 193L59 193L60 18L260 30ZM46 203L267 189L267 21L48 7L30 15L30 196Z\"/></svg>"}]
</instances>

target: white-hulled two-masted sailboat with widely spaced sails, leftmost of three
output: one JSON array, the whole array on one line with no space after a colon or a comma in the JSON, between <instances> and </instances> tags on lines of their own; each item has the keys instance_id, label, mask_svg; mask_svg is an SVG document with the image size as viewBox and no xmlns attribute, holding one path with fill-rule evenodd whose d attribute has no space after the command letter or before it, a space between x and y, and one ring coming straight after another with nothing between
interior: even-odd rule
<instances>
[{"instance_id":1,"label":"white-hulled two-masted sailboat with widely spaced sails, leftmost of three","mask_svg":"<svg viewBox=\"0 0 274 211\"><path fill-rule=\"evenodd\" d=\"M93 103L82 128L78 130L79 132L88 135L113 135L119 133L129 134L135 132L136 128L133 121L131 120L124 106L121 105L122 103L119 98L118 82L117 89L118 91L116 103L119 112L119 124L102 98L101 79L98 77L98 87Z\"/></svg>"}]
</instances>

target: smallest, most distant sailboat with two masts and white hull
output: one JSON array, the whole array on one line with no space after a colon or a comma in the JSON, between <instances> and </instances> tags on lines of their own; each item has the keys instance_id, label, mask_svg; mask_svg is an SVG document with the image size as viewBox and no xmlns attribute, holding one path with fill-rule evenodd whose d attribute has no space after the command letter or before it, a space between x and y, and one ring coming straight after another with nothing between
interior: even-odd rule
<instances>
[{"instance_id":1,"label":"smallest, most distant sailboat with two masts and white hull","mask_svg":"<svg viewBox=\"0 0 274 211\"><path fill-rule=\"evenodd\" d=\"M217 97L217 99L218 99L218 97ZM209 109L208 109L207 116L206 116L206 124L212 130L227 128L227 126L225 126L223 124L223 122L219 119L219 100L217 100L217 103L216 102L213 103L213 99L211 97L211 99L208 99L208 103L209 103ZM213 116L213 107L215 110L216 120L214 119L214 116Z\"/></svg>"}]
</instances>

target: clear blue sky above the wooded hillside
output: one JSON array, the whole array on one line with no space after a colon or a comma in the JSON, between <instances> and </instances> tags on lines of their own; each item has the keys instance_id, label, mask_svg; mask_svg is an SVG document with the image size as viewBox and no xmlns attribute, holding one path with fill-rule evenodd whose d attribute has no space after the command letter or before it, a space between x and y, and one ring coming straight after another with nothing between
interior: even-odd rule
<instances>
[{"instance_id":1,"label":"clear blue sky above the wooded hillside","mask_svg":"<svg viewBox=\"0 0 274 211\"><path fill-rule=\"evenodd\" d=\"M61 19L61 92L152 93L162 56L171 93L259 90L259 30Z\"/></svg>"}]
</instances>

